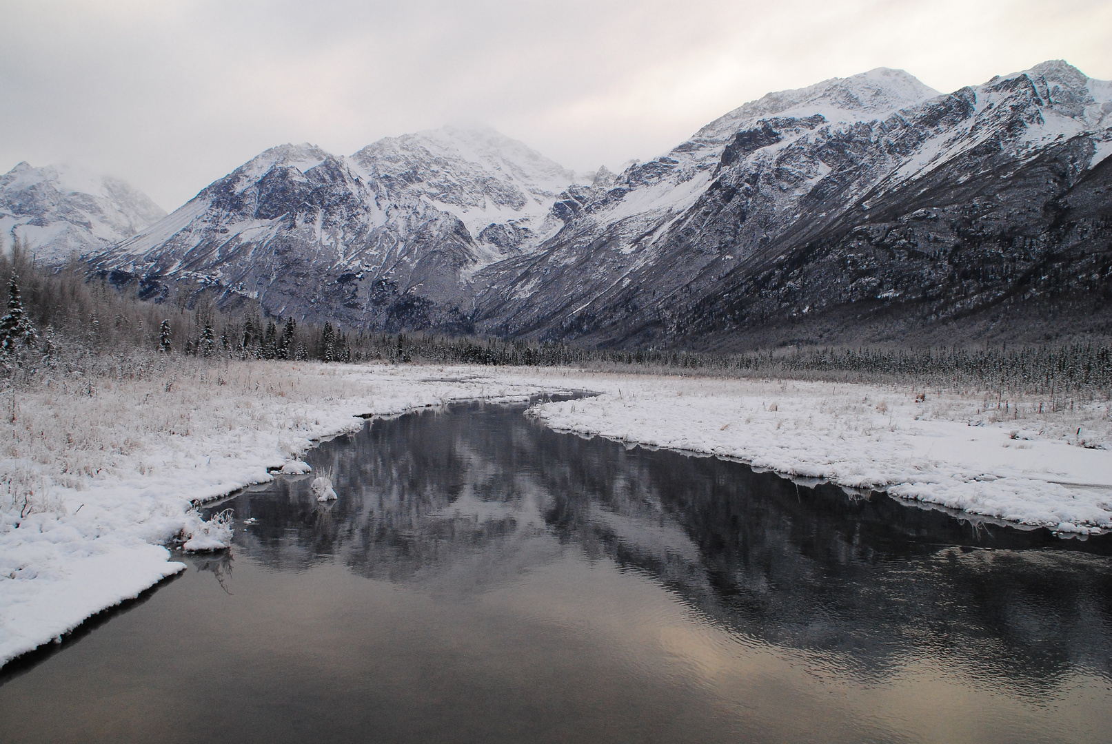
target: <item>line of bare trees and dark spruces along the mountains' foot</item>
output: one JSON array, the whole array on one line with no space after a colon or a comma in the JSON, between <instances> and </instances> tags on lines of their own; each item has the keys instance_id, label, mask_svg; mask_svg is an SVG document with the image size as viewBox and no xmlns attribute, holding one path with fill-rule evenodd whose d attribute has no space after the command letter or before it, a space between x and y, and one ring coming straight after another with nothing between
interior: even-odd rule
<instances>
[{"instance_id":1,"label":"line of bare trees and dark spruces along the mountains' foot","mask_svg":"<svg viewBox=\"0 0 1112 744\"><path fill-rule=\"evenodd\" d=\"M60 351L122 354L143 349L167 356L321 362L579 366L722 376L895 382L1051 399L1112 391L1112 348L1088 343L985 349L776 349L737 354L675 349L587 349L558 341L381 333L268 315L245 301L221 310L205 291L161 303L140 301L77 263L59 270L37 267L17 242L0 255L7 288L0 318L0 356L6 370L47 363Z\"/></svg>"}]
</instances>

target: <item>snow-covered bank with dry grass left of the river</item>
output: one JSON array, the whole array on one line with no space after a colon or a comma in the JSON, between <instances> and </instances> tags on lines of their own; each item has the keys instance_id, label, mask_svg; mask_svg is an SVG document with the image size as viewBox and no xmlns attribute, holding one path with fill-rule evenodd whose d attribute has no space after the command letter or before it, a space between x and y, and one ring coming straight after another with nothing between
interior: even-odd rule
<instances>
[{"instance_id":1,"label":"snow-covered bank with dry grass left of the river","mask_svg":"<svg viewBox=\"0 0 1112 744\"><path fill-rule=\"evenodd\" d=\"M0 460L0 663L182 570L163 545L201 536L193 502L271 480L354 416L559 386L471 372L232 363L21 391Z\"/></svg>"}]
</instances>

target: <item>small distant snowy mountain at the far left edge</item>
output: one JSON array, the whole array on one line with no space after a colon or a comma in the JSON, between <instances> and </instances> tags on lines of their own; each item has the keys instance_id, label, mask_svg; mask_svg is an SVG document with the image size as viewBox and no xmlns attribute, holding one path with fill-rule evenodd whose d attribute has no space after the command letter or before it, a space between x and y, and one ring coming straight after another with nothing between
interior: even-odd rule
<instances>
[{"instance_id":1,"label":"small distant snowy mountain at the far left edge","mask_svg":"<svg viewBox=\"0 0 1112 744\"><path fill-rule=\"evenodd\" d=\"M118 178L26 162L0 175L4 244L19 238L48 265L102 250L163 217L158 204Z\"/></svg>"}]
</instances>

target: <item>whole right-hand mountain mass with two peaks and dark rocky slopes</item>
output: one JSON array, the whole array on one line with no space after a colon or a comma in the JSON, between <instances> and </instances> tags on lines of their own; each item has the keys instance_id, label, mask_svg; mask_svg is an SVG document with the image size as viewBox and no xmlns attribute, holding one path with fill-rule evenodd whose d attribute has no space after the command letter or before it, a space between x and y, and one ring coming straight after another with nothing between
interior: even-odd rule
<instances>
[{"instance_id":1,"label":"whole right-hand mountain mass with two peaks and dark rocky slopes","mask_svg":"<svg viewBox=\"0 0 1112 744\"><path fill-rule=\"evenodd\" d=\"M821 343L838 335L815 335L824 315L926 326L1105 292L1112 87L1063 62L942 97L912 80L873 71L772 94L609 188L569 190L543 251L480 274L479 328Z\"/></svg>"}]
</instances>

